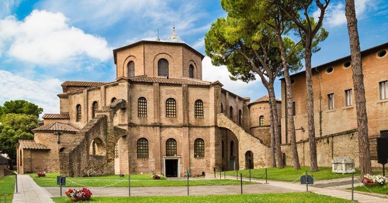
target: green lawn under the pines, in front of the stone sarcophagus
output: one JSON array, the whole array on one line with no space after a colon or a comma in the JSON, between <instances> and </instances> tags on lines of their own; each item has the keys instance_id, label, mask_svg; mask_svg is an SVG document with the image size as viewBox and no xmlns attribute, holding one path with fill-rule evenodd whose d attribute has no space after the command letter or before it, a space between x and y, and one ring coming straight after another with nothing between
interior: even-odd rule
<instances>
[{"instance_id":1,"label":"green lawn under the pines, in front of the stone sarcophagus","mask_svg":"<svg viewBox=\"0 0 388 203\"><path fill-rule=\"evenodd\" d=\"M311 175L314 176L316 180L327 180L334 178L343 178L352 176L352 174L338 174L332 173L331 168L319 167L319 171L311 172L310 167L301 167L301 170L295 171L292 166L286 166L283 169L279 168L267 168L267 179L268 180L280 180L280 181L300 181L299 177L305 172L308 171ZM243 173L243 177L249 177L249 170L239 170L238 176L240 173ZM223 174L223 172L222 172ZM227 171L227 175L236 175L236 171ZM265 179L265 169L251 169L251 177L258 179ZM356 170L355 176L360 176L360 170ZM218 174L219 175L219 174Z\"/></svg>"}]
</instances>

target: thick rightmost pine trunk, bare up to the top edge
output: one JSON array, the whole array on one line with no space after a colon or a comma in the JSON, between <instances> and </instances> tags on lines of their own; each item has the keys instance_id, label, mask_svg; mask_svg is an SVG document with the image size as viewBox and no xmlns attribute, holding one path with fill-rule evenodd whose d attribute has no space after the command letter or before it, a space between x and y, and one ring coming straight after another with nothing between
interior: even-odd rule
<instances>
[{"instance_id":1,"label":"thick rightmost pine trunk, bare up to the top edge","mask_svg":"<svg viewBox=\"0 0 388 203\"><path fill-rule=\"evenodd\" d=\"M357 30L357 18L354 0L346 0L345 15L348 21L350 52L352 57L353 86L357 111L358 147L360 152L361 176L372 174L368 139L368 118L366 115L366 101L364 89L364 75L362 73L362 60L360 39Z\"/></svg>"}]
</instances>

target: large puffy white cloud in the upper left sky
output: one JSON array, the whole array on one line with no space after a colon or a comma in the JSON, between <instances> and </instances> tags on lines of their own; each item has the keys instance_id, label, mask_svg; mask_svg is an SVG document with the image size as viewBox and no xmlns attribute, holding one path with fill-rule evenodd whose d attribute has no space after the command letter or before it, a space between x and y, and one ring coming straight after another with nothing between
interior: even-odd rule
<instances>
[{"instance_id":1,"label":"large puffy white cloud in the upper left sky","mask_svg":"<svg viewBox=\"0 0 388 203\"><path fill-rule=\"evenodd\" d=\"M105 39L69 26L62 13L34 10L23 21L14 16L0 20L0 54L21 61L53 65L84 57L106 61L112 52Z\"/></svg>"}]
</instances>

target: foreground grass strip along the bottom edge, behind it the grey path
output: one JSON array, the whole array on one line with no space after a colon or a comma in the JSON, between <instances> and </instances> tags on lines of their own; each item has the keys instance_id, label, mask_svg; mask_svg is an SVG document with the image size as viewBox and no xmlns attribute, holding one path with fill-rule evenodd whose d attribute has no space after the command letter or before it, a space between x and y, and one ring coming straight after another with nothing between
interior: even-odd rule
<instances>
[{"instance_id":1,"label":"foreground grass strip along the bottom edge, behind it the grey path","mask_svg":"<svg viewBox=\"0 0 388 203\"><path fill-rule=\"evenodd\" d=\"M55 202L71 202L68 197L53 197ZM88 202L351 202L311 192L204 195L204 196L134 196L134 197L91 197Z\"/></svg>"}]
</instances>

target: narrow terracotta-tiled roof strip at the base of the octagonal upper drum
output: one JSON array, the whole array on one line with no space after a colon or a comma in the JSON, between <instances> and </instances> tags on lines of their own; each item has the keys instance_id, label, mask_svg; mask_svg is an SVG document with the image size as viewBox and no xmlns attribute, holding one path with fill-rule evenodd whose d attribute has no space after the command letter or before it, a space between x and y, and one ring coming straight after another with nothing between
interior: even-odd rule
<instances>
[{"instance_id":1,"label":"narrow terracotta-tiled roof strip at the base of the octagonal upper drum","mask_svg":"<svg viewBox=\"0 0 388 203\"><path fill-rule=\"evenodd\" d=\"M165 78L165 77L147 77L140 76L130 78L131 81L135 82L146 82L146 83L166 83L166 84L187 84L187 85L210 85L210 82L191 79L191 78Z\"/></svg>"}]
</instances>

